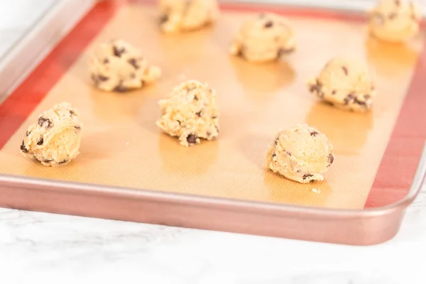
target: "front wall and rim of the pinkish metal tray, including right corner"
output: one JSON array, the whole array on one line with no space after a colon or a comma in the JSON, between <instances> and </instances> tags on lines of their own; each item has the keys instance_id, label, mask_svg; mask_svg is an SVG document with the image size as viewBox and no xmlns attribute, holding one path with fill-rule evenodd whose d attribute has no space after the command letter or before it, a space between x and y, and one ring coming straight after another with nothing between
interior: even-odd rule
<instances>
[{"instance_id":1,"label":"front wall and rim of the pinkish metal tray, including right corner","mask_svg":"<svg viewBox=\"0 0 426 284\"><path fill-rule=\"evenodd\" d=\"M373 209L320 209L0 175L0 206L84 217L367 246L398 233L426 178L426 146L409 194ZM56 204L59 204L56 205Z\"/></svg>"}]
</instances>

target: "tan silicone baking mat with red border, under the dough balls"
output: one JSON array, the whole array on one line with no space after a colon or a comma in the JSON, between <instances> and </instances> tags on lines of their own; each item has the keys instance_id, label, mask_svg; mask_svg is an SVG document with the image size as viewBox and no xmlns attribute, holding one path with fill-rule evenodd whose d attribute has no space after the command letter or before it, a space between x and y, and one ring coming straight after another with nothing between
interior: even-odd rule
<instances>
[{"instance_id":1,"label":"tan silicone baking mat with red border, under the dough balls","mask_svg":"<svg viewBox=\"0 0 426 284\"><path fill-rule=\"evenodd\" d=\"M268 9L288 15L298 48L279 62L251 64L231 57L229 43L241 23L265 7L224 4L214 26L164 35L152 4L99 2L1 104L0 173L315 207L356 209L400 200L426 137L423 36L386 45L368 38L356 16ZM112 38L141 48L163 77L127 94L94 89L87 53ZM336 55L368 62L378 94L370 113L334 109L307 92L306 81ZM188 79L217 90L220 135L184 148L155 120L158 100ZM23 158L19 146L28 126L62 101L80 110L81 154L61 168ZM334 145L324 182L301 185L263 167L275 133L298 123L317 127Z\"/></svg>"}]
</instances>

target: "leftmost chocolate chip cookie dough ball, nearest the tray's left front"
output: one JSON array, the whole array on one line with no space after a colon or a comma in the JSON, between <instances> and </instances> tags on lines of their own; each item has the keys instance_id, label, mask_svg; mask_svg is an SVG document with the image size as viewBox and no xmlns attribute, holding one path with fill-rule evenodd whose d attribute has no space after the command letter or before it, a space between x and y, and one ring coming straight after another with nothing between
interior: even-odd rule
<instances>
[{"instance_id":1,"label":"leftmost chocolate chip cookie dough ball, nearest the tray's left front","mask_svg":"<svg viewBox=\"0 0 426 284\"><path fill-rule=\"evenodd\" d=\"M55 104L28 128L21 153L43 165L67 165L79 153L82 124L78 118L70 103Z\"/></svg>"}]
</instances>

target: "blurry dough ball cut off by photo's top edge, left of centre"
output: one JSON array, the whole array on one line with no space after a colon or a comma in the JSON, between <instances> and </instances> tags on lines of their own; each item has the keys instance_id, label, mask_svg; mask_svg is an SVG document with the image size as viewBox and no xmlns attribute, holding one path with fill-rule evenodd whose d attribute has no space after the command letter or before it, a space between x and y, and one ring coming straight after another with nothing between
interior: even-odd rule
<instances>
[{"instance_id":1,"label":"blurry dough ball cut off by photo's top edge, left of centre","mask_svg":"<svg viewBox=\"0 0 426 284\"><path fill-rule=\"evenodd\" d=\"M165 33L193 31L216 21L217 0L160 0L160 28Z\"/></svg>"}]
</instances>

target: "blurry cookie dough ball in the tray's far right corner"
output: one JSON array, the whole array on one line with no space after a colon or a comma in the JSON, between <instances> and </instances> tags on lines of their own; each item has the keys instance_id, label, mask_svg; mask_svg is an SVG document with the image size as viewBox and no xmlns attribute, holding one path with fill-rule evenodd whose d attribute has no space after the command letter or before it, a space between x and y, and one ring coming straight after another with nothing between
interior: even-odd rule
<instances>
[{"instance_id":1,"label":"blurry cookie dough ball in the tray's far right corner","mask_svg":"<svg viewBox=\"0 0 426 284\"><path fill-rule=\"evenodd\" d=\"M369 28L376 38L402 43L419 32L421 18L415 1L380 0L369 13Z\"/></svg>"}]
</instances>

